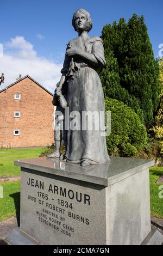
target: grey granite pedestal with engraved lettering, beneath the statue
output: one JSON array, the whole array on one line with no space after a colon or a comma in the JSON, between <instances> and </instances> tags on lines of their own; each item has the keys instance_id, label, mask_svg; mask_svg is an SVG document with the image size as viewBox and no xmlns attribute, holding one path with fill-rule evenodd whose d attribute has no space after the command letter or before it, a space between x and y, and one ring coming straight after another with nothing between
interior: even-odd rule
<instances>
[{"instance_id":1,"label":"grey granite pedestal with engraved lettering, beneath the statue","mask_svg":"<svg viewBox=\"0 0 163 256\"><path fill-rule=\"evenodd\" d=\"M110 159L87 167L46 157L16 161L21 166L16 234L26 244L30 237L29 244L42 245L140 245L151 231L149 167L154 162Z\"/></svg>"}]
</instances>

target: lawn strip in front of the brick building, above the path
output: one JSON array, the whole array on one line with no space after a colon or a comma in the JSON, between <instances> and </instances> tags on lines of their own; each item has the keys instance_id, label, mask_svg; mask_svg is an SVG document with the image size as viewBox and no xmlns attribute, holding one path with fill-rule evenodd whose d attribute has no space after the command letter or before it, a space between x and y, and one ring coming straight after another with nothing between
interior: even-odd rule
<instances>
[{"instance_id":1,"label":"lawn strip in front of the brick building, above the path","mask_svg":"<svg viewBox=\"0 0 163 256\"><path fill-rule=\"evenodd\" d=\"M20 166L15 166L15 160L39 157L42 148L34 149L0 149L0 176L20 175Z\"/></svg>"}]
</instances>

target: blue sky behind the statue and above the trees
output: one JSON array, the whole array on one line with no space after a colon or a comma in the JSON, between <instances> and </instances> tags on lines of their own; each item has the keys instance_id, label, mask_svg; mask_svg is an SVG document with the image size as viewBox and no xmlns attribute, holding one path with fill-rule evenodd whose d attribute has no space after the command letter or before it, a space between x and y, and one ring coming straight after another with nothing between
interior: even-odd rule
<instances>
[{"instance_id":1,"label":"blue sky behind the statue and above the trees","mask_svg":"<svg viewBox=\"0 0 163 256\"><path fill-rule=\"evenodd\" d=\"M51 87L52 89L54 86L49 86L49 84L55 83L60 76L59 69L64 60L66 43L69 39L77 36L71 25L71 20L74 11L78 8L84 8L90 12L93 21L90 35L98 36L101 35L102 28L106 23L112 23L114 20L118 21L121 17L128 20L134 13L139 16L144 15L155 57L158 56L158 46L163 44L163 1L161 0L83 0L81 2L74 0L5 0L1 2L0 44L4 47L4 57L7 57L7 55L10 56L10 59L12 57L12 64L10 62L9 65L10 69L14 64L13 58L17 59L20 56L20 47L21 53L24 47L27 54L23 51L23 57L22 55L20 57L23 59L24 69L26 69L25 56L30 57L29 50L34 56L31 58L31 62L33 58L35 60L37 58L38 61L43 61L43 65L46 62L48 65L50 63L54 64L53 68L55 66L57 75L55 75L55 78L54 76L51 77L51 81L43 82L46 83L43 84L45 87ZM16 41L11 41L11 39L16 39ZM12 72L13 78L9 74L6 62L6 59L5 61L3 59L2 62L2 58L0 58L0 69L7 74L5 86L8 85L7 82L10 83L12 79L15 79L14 71ZM5 63L4 66L3 63ZM28 58L28 65L29 63ZM37 67L39 68L39 66ZM48 67L46 70L48 70ZM29 67L27 71L30 72ZM17 73L20 72L23 73L22 75L27 74L26 70L21 70L17 65ZM43 69L40 69L40 72L43 72ZM18 74L15 74L15 76ZM39 72L37 71L35 78L38 80L38 77Z\"/></svg>"}]
</instances>

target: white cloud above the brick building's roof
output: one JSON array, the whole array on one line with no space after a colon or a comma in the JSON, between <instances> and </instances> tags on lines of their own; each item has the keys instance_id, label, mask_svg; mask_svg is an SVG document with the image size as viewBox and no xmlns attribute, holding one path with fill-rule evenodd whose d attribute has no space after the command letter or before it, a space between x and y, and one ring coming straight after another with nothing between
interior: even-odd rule
<instances>
[{"instance_id":1,"label":"white cloud above the brick building's roof","mask_svg":"<svg viewBox=\"0 0 163 256\"><path fill-rule=\"evenodd\" d=\"M4 45L3 57L0 56L0 74L4 73L5 81L0 90L15 82L19 74L29 75L50 92L54 92L60 80L62 64L37 56L34 46L23 36L16 36Z\"/></svg>"}]
</instances>

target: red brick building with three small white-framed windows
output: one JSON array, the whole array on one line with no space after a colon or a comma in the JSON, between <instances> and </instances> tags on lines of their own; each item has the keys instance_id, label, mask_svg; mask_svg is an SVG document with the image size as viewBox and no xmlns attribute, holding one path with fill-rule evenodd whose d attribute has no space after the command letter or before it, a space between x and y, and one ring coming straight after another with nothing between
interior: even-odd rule
<instances>
[{"instance_id":1,"label":"red brick building with three small white-framed windows","mask_svg":"<svg viewBox=\"0 0 163 256\"><path fill-rule=\"evenodd\" d=\"M53 94L30 76L0 90L0 149L54 142Z\"/></svg>"}]
</instances>

